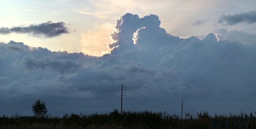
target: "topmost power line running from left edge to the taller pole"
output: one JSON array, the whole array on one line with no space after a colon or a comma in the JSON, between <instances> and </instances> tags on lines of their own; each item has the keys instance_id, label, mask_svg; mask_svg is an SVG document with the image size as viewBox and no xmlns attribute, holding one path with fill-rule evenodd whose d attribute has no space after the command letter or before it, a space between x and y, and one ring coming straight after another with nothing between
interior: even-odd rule
<instances>
[{"instance_id":1,"label":"topmost power line running from left edge to the taller pole","mask_svg":"<svg viewBox=\"0 0 256 129\"><path fill-rule=\"evenodd\" d=\"M9 66L3 66L3 65L0 65L0 66L5 67L5 68L14 69L14 70L23 71L23 72L29 72L29 73L32 73L32 74L38 74L38 75L43 75L43 76L48 76L48 77L56 77L56 78L59 78L59 79L66 79L66 80L72 80L72 81L81 81L81 82L87 82L87 83L101 83L101 84L120 85L119 83L102 83L102 82L94 82L94 81L83 81L83 80L78 80L78 79L68 79L68 78L65 78L65 77L57 77L57 76L52 76L52 75L47 75L47 74L41 74L41 73L38 73L38 72L30 72L30 71L27 71L27 70L12 68L12 67L9 67Z\"/></svg>"}]
</instances>

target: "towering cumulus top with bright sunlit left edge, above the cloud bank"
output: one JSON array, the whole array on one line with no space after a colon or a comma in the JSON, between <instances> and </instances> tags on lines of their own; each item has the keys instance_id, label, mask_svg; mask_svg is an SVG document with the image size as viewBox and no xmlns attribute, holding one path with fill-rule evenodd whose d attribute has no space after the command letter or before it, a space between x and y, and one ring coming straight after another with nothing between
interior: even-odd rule
<instances>
[{"instance_id":1,"label":"towering cumulus top with bright sunlit left edge, above the cloud bank","mask_svg":"<svg viewBox=\"0 0 256 129\"><path fill-rule=\"evenodd\" d=\"M157 28L160 25L157 15L149 15L139 18L138 15L126 13L117 20L115 31L109 35L112 43L108 44L108 53L120 54L123 51L133 50L133 33L141 27Z\"/></svg>"}]
</instances>

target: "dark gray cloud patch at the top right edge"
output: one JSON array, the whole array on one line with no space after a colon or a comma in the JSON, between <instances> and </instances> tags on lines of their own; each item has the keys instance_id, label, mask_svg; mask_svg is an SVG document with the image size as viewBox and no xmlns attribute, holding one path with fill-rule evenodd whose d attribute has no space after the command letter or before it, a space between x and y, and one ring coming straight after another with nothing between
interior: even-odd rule
<instances>
[{"instance_id":1,"label":"dark gray cloud patch at the top right edge","mask_svg":"<svg viewBox=\"0 0 256 129\"><path fill-rule=\"evenodd\" d=\"M249 11L246 13L238 13L235 15L221 15L218 23L226 25L235 25L241 22L249 24L256 22L256 11Z\"/></svg>"}]
</instances>

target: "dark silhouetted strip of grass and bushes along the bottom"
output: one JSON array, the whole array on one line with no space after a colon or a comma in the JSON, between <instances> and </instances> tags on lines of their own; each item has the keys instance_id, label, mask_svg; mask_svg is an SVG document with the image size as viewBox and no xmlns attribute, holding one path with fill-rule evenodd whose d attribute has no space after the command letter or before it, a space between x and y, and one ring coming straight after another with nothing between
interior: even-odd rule
<instances>
[{"instance_id":1,"label":"dark silhouetted strip of grass and bushes along the bottom","mask_svg":"<svg viewBox=\"0 0 256 129\"><path fill-rule=\"evenodd\" d=\"M1 129L212 129L212 122L229 119L230 128L235 115L211 117L208 111L197 113L197 118L186 117L181 120L176 114L166 112L131 112L123 115L117 109L108 114L64 114L59 116L21 116L0 117ZM254 118L254 122L255 122ZM250 120L249 120L249 124ZM252 125L252 124L251 124ZM218 124L218 127L220 124Z\"/></svg>"}]
</instances>

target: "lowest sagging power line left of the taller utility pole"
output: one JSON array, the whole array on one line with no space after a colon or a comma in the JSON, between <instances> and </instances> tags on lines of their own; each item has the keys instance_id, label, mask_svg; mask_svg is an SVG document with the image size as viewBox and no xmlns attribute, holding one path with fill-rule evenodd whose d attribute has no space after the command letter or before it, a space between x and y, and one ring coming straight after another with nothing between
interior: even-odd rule
<instances>
[{"instance_id":1,"label":"lowest sagging power line left of the taller utility pole","mask_svg":"<svg viewBox=\"0 0 256 129\"><path fill-rule=\"evenodd\" d=\"M113 99L113 98L90 98L90 99L84 99L84 98L63 98L63 97L54 97L54 96L45 96L45 95L22 93L22 92L16 92L16 91L5 90L5 89L0 89L0 90L4 90L4 91L0 91L0 92L4 92L4 93L8 93L8 94L17 94L17 95L41 97L41 98L65 99L65 100L106 100L106 99Z\"/></svg>"}]
</instances>

